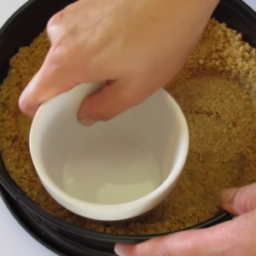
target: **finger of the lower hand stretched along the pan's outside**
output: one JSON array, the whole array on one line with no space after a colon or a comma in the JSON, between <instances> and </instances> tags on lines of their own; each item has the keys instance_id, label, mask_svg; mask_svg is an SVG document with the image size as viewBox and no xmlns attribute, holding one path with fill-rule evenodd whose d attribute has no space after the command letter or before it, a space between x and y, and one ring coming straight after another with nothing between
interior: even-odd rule
<instances>
[{"instance_id":1,"label":"finger of the lower hand stretched along the pan's outside","mask_svg":"<svg viewBox=\"0 0 256 256\"><path fill-rule=\"evenodd\" d=\"M137 244L116 244L119 256L254 256L255 211L204 230L186 230Z\"/></svg>"}]
</instances>

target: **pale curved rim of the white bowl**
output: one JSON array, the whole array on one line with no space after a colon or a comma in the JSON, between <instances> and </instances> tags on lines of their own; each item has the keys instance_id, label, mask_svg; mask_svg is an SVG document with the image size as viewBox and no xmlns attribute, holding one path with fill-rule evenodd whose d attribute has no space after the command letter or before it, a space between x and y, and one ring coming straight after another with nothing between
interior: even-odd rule
<instances>
[{"instance_id":1,"label":"pale curved rim of the white bowl","mask_svg":"<svg viewBox=\"0 0 256 256\"><path fill-rule=\"evenodd\" d=\"M97 86L96 83L90 84L81 84L79 86ZM67 96L67 94L75 95L80 89L83 90L83 87L75 88L76 90L70 90L62 96ZM148 206L150 201L154 201L156 198L160 198L161 195L165 194L170 187L175 184L183 172L183 166L187 160L187 155L189 152L189 126L187 120L184 116L183 110L178 105L177 101L164 89L157 90L152 97L157 96L158 100L161 99L166 102L166 109L168 112L173 113L175 116L176 122L178 124L178 145L177 145L177 157L174 166L170 170L169 175L166 177L163 183L148 195L126 203L121 203L117 205L102 205L91 203L87 201L79 200L72 195L68 195L67 192L62 190L49 176L49 173L44 168L44 163L42 160L41 150L38 147L38 127L44 122L47 113L49 113L52 104L55 104L56 101L61 100L61 96L55 97L48 102L44 102L38 112L35 114L34 119L32 120L32 126L29 136L29 147L32 156L32 162L35 166L38 177L44 185L44 188L48 190L49 194L55 198L56 201L59 201L62 207L66 207L69 211L79 214L84 218L91 218L99 221L120 221L128 218L135 218L142 215L145 212L148 212ZM137 107L139 108L139 106ZM155 207L155 206L154 206ZM137 209L141 209L137 212ZM151 210L151 208L149 209ZM82 212L82 213L80 213ZM104 212L104 213L103 213ZM119 216L119 218L116 218ZM115 218L114 218L115 217Z\"/></svg>"}]
</instances>

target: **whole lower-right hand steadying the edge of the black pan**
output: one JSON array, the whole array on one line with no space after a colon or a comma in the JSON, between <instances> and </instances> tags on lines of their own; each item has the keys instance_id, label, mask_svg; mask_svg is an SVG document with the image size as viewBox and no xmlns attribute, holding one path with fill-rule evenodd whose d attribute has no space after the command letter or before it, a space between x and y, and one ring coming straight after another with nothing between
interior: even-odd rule
<instances>
[{"instance_id":1,"label":"whole lower-right hand steadying the edge of the black pan","mask_svg":"<svg viewBox=\"0 0 256 256\"><path fill-rule=\"evenodd\" d=\"M237 218L205 230L188 230L140 244L117 244L119 256L255 256L256 183L225 189L220 201Z\"/></svg>"}]
</instances>

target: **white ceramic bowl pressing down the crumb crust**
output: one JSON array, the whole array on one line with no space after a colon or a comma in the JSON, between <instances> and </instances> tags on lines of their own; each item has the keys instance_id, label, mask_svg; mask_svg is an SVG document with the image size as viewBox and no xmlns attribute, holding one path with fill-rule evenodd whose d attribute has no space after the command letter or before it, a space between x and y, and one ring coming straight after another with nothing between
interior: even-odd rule
<instances>
[{"instance_id":1,"label":"white ceramic bowl pressing down the crumb crust","mask_svg":"<svg viewBox=\"0 0 256 256\"><path fill-rule=\"evenodd\" d=\"M77 113L102 84L81 84L44 102L30 150L45 189L71 212L102 221L137 217L172 191L189 148L182 110L160 89L135 108L90 127Z\"/></svg>"}]
</instances>

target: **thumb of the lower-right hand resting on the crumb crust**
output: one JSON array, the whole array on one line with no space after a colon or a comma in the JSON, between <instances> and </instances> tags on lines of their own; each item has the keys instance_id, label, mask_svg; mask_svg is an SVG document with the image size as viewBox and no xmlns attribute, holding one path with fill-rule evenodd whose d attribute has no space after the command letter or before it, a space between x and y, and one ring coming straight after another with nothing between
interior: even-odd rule
<instances>
[{"instance_id":1,"label":"thumb of the lower-right hand resting on the crumb crust","mask_svg":"<svg viewBox=\"0 0 256 256\"><path fill-rule=\"evenodd\" d=\"M241 189L224 189L220 195L222 207L227 212L239 216L256 209L256 183Z\"/></svg>"}]
</instances>

